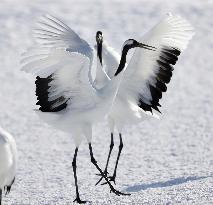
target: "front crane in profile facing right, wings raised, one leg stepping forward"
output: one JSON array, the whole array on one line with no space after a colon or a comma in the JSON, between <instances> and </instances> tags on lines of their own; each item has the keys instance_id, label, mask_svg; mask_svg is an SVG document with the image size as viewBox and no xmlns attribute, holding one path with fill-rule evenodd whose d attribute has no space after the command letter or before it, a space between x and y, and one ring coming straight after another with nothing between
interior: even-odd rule
<instances>
[{"instance_id":1,"label":"front crane in profile facing right, wings raised, one leg stepping forward","mask_svg":"<svg viewBox=\"0 0 213 205\"><path fill-rule=\"evenodd\" d=\"M72 162L76 186L74 201L85 203L79 196L76 174L78 148L84 136L89 144L91 162L111 191L116 195L126 195L112 186L94 158L91 144L92 125L103 119L115 99L128 50L135 47L149 50L155 48L133 39L125 41L114 77L98 89L91 77L93 50L71 28L57 18L46 15L39 23L39 28L35 30L35 37L38 44L23 54L22 70L37 76L35 81L37 105L40 105L38 115L55 128L72 134L74 138L76 145Z\"/></svg>"}]
</instances>

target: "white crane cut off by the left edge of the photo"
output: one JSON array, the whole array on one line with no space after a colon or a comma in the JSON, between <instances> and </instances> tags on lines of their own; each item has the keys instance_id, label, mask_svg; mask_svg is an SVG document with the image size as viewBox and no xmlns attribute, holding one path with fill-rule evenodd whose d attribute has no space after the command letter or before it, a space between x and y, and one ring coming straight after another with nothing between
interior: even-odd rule
<instances>
[{"instance_id":1,"label":"white crane cut off by the left edge of the photo","mask_svg":"<svg viewBox=\"0 0 213 205\"><path fill-rule=\"evenodd\" d=\"M10 193L15 181L17 163L16 142L11 134L0 127L0 205L2 197Z\"/></svg>"}]
</instances>

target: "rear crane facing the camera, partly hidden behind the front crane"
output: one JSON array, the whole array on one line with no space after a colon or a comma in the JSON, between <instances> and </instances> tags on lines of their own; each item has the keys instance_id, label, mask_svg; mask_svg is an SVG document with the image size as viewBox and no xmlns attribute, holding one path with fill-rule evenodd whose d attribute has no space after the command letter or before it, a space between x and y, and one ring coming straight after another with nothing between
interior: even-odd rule
<instances>
[{"instance_id":1,"label":"rear crane facing the camera, partly hidden behind the front crane","mask_svg":"<svg viewBox=\"0 0 213 205\"><path fill-rule=\"evenodd\" d=\"M176 64L180 53L187 47L193 34L193 28L188 21L168 14L142 37L142 42L158 49L156 52L144 49L135 50L108 115L111 143L104 169L105 175L107 175L107 167L114 146L115 128L120 137L114 172L108 177L110 181L115 183L118 161L123 148L122 128L125 124L135 124L149 117L158 117L152 110L160 112L159 100L162 98L162 92L167 90L166 84L171 80L173 65ZM98 70L95 80L96 86L100 85L100 87L108 82L107 78L103 78L105 72L109 78L113 77L120 59L120 55L106 41L101 47L105 70L103 71L103 68ZM102 59L99 61L102 64ZM96 184L101 180L102 177Z\"/></svg>"}]
</instances>

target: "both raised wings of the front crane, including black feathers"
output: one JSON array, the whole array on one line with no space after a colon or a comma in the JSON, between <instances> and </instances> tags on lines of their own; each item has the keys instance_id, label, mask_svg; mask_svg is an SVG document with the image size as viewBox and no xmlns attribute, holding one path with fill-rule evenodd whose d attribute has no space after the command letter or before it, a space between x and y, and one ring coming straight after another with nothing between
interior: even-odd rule
<instances>
[{"instance_id":1,"label":"both raised wings of the front crane, including black feathers","mask_svg":"<svg viewBox=\"0 0 213 205\"><path fill-rule=\"evenodd\" d=\"M95 103L91 65L93 50L62 21L46 15L34 31L37 44L23 54L22 70L36 77L43 112L85 109Z\"/></svg>"}]
</instances>

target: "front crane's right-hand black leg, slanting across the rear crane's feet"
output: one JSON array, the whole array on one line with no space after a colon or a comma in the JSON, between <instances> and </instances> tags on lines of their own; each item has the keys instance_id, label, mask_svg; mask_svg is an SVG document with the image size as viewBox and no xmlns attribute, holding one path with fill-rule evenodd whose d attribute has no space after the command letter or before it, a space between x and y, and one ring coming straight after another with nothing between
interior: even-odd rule
<instances>
[{"instance_id":1,"label":"front crane's right-hand black leg, slanting across the rear crane's feet","mask_svg":"<svg viewBox=\"0 0 213 205\"><path fill-rule=\"evenodd\" d=\"M105 179L106 183L109 185L109 187L110 187L110 189L111 189L111 192L115 193L115 194L118 195L118 196L119 196L119 195L130 195L130 194L125 194L125 193L122 193L122 192L120 192L120 191L117 191L117 190L112 186L112 184L109 182L107 176L103 173L103 171L102 171L101 168L98 166L97 161L96 161L95 158L94 158L91 143L89 143L89 150L90 150L91 162L95 165L96 169L100 172L101 176Z\"/></svg>"}]
</instances>

